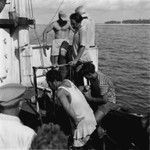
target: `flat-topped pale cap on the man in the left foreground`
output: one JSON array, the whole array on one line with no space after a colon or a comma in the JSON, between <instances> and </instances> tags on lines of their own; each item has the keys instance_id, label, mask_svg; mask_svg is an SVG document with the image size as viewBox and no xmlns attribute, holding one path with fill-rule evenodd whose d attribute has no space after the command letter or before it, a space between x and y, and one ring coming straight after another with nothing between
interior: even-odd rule
<instances>
[{"instance_id":1,"label":"flat-topped pale cap on the man in the left foreground","mask_svg":"<svg viewBox=\"0 0 150 150\"><path fill-rule=\"evenodd\" d=\"M21 84L10 83L0 87L0 105L10 106L20 101L26 87Z\"/></svg>"}]
</instances>

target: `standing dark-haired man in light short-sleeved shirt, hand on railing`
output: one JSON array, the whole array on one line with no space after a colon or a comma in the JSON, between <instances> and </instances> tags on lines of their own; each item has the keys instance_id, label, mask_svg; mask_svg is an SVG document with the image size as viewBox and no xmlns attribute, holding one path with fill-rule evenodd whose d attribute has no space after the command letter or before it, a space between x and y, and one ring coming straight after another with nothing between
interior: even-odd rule
<instances>
[{"instance_id":1,"label":"standing dark-haired man in light short-sleeved shirt, hand on railing","mask_svg":"<svg viewBox=\"0 0 150 150\"><path fill-rule=\"evenodd\" d=\"M87 32L87 26L82 26L83 17L79 13L73 13L70 16L70 22L72 28L75 30L73 37L73 51L72 57L73 61L70 63L74 65L74 83L82 90L84 85L83 77L80 72L78 72L78 67L82 62L91 61L89 55L89 37Z\"/></svg>"}]
</instances>

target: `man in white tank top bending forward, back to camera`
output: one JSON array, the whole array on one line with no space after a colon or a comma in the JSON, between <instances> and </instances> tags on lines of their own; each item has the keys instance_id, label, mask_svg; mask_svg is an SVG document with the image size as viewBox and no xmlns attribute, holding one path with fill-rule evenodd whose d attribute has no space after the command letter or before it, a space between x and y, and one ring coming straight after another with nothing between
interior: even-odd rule
<instances>
[{"instance_id":1,"label":"man in white tank top bending forward, back to camera","mask_svg":"<svg viewBox=\"0 0 150 150\"><path fill-rule=\"evenodd\" d=\"M70 81L63 80L58 70L46 74L49 87L56 91L56 97L72 122L73 149L83 147L96 129L93 110L81 91Z\"/></svg>"}]
</instances>

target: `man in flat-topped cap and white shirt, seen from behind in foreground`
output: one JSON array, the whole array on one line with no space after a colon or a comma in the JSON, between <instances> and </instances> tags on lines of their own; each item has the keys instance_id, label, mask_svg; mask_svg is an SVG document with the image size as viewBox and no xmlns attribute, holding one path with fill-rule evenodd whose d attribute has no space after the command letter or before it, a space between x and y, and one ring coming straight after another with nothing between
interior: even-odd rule
<instances>
[{"instance_id":1,"label":"man in flat-topped cap and white shirt, seen from behind in foreground","mask_svg":"<svg viewBox=\"0 0 150 150\"><path fill-rule=\"evenodd\" d=\"M36 135L18 117L26 88L10 83L0 87L0 149L26 150Z\"/></svg>"}]
</instances>

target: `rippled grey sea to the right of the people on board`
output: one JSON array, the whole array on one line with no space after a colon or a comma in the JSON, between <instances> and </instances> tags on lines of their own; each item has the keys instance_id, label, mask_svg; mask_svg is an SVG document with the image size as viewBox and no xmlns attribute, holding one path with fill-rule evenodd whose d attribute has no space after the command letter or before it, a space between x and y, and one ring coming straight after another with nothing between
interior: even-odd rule
<instances>
[{"instance_id":1,"label":"rippled grey sea to the right of the people on board","mask_svg":"<svg viewBox=\"0 0 150 150\"><path fill-rule=\"evenodd\" d=\"M118 102L150 112L150 26L97 25L96 44L99 70L112 78Z\"/></svg>"}]
</instances>

